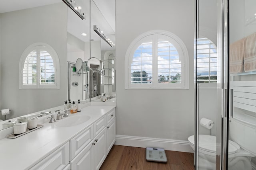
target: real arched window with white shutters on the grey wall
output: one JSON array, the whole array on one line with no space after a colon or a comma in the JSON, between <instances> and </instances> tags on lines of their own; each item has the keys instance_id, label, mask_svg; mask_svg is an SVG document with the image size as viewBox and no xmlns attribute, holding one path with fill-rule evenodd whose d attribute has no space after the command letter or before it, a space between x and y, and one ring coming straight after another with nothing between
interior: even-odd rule
<instances>
[{"instance_id":1,"label":"real arched window with white shutters on the grey wall","mask_svg":"<svg viewBox=\"0 0 256 170\"><path fill-rule=\"evenodd\" d=\"M149 31L137 37L125 57L125 88L188 89L188 52L176 35Z\"/></svg>"}]
</instances>

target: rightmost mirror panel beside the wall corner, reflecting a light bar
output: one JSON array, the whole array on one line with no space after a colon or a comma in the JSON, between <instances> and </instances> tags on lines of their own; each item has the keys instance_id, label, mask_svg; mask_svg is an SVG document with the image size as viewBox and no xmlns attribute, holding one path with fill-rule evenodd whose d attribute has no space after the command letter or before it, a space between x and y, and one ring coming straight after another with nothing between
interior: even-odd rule
<instances>
[{"instance_id":1,"label":"rightmost mirror panel beside the wall corner, reflecting a light bar","mask_svg":"<svg viewBox=\"0 0 256 170\"><path fill-rule=\"evenodd\" d=\"M104 63L104 73L90 72L91 101L102 101L105 94L109 101L115 100L116 92L116 2L115 0L91 0L91 57ZM98 28L98 33L95 31ZM100 36L101 35L101 36ZM107 41L109 41L107 43Z\"/></svg>"}]
</instances>

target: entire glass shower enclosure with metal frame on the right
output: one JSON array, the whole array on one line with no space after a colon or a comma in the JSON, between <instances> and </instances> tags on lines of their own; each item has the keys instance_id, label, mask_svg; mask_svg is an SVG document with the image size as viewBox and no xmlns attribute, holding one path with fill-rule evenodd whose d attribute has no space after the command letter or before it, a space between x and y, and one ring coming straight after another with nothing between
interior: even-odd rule
<instances>
[{"instance_id":1,"label":"entire glass shower enclosure with metal frame on the right","mask_svg":"<svg viewBox=\"0 0 256 170\"><path fill-rule=\"evenodd\" d=\"M255 170L256 1L197 0L196 9L195 167Z\"/></svg>"}]
</instances>

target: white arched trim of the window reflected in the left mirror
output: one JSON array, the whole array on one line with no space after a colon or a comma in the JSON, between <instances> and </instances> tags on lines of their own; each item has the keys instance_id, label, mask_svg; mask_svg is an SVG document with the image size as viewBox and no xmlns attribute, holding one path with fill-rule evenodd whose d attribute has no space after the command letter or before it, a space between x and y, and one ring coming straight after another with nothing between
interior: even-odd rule
<instances>
[{"instance_id":1,"label":"white arched trim of the window reflected in the left mirror","mask_svg":"<svg viewBox=\"0 0 256 170\"><path fill-rule=\"evenodd\" d=\"M33 84L33 85L23 85L23 64L26 60L28 54L36 49L37 46L44 46L47 49L47 52L52 56L52 60L54 63L54 84ZM39 74L37 74L37 80L39 80L38 77ZM28 46L24 52L22 53L22 56L20 57L20 64L19 64L19 89L60 89L60 61L58 54L56 51L48 44L46 43L34 43Z\"/></svg>"}]
</instances>

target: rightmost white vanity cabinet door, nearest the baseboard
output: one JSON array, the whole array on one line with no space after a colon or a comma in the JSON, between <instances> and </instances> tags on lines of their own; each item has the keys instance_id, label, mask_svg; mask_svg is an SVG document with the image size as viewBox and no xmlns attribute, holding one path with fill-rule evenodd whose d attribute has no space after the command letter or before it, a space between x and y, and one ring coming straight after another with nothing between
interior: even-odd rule
<instances>
[{"instance_id":1,"label":"rightmost white vanity cabinet door, nearest the baseboard","mask_svg":"<svg viewBox=\"0 0 256 170\"><path fill-rule=\"evenodd\" d=\"M116 141L116 117L107 125L107 154Z\"/></svg>"}]
</instances>

